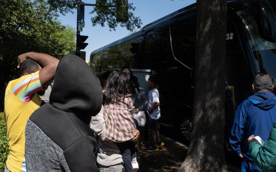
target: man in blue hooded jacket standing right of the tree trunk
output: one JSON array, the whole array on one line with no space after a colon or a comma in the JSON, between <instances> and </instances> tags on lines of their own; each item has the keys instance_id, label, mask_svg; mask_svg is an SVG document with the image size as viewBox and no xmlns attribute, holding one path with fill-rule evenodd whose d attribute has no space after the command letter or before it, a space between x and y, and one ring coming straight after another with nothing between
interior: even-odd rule
<instances>
[{"instance_id":1,"label":"man in blue hooded jacket standing right of the tree trunk","mask_svg":"<svg viewBox=\"0 0 276 172\"><path fill-rule=\"evenodd\" d=\"M253 77L253 95L239 105L230 134L231 150L241 158L241 171L262 171L254 164L248 151L247 138L254 134L264 141L269 137L276 121L276 98L269 74L257 73Z\"/></svg>"}]
</instances>

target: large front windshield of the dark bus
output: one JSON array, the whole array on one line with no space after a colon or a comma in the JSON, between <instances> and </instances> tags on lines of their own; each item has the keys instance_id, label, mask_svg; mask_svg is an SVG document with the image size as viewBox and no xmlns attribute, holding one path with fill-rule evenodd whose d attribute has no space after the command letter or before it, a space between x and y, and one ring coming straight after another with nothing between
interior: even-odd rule
<instances>
[{"instance_id":1,"label":"large front windshield of the dark bus","mask_svg":"<svg viewBox=\"0 0 276 172\"><path fill-rule=\"evenodd\" d=\"M269 0L271 7L276 12L276 2ZM271 78L276 78L276 43L261 38L254 14L250 8L237 12L245 27L246 36L250 45L251 53L254 55L254 72L266 72ZM252 61L251 61L252 62ZM275 84L275 83L274 83Z\"/></svg>"}]
</instances>

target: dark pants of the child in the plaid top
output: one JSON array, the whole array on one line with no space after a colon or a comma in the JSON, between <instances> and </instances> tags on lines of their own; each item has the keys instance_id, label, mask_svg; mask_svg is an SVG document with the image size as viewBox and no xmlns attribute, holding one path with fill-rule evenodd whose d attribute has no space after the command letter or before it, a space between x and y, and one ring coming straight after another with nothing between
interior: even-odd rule
<instances>
[{"instance_id":1,"label":"dark pants of the child in the plaid top","mask_svg":"<svg viewBox=\"0 0 276 172\"><path fill-rule=\"evenodd\" d=\"M137 156L134 142L125 141L122 143L116 143L116 145L119 147L119 150L121 151L126 172L133 172L131 159Z\"/></svg>"}]
</instances>

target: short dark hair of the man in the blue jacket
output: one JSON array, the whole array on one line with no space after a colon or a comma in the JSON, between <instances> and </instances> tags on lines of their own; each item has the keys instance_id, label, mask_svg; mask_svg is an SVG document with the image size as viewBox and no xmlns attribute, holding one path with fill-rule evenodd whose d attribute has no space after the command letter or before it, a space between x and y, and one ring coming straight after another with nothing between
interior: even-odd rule
<instances>
[{"instance_id":1,"label":"short dark hair of the man in the blue jacket","mask_svg":"<svg viewBox=\"0 0 276 172\"><path fill-rule=\"evenodd\" d=\"M261 90L271 90L272 87L272 80L270 78L270 74L267 73L257 73L253 77L253 83L254 89L256 91L261 91Z\"/></svg>"}]
</instances>

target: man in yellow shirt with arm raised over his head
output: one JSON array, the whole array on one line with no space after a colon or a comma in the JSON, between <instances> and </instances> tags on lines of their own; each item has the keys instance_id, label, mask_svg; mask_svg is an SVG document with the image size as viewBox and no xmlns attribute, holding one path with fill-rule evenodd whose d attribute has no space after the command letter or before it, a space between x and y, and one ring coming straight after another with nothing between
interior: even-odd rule
<instances>
[{"instance_id":1,"label":"man in yellow shirt with arm raised over his head","mask_svg":"<svg viewBox=\"0 0 276 172\"><path fill-rule=\"evenodd\" d=\"M5 91L9 155L5 172L25 172L25 125L30 115L41 106L37 94L54 78L59 60L46 54L29 52L18 56L20 78L8 83ZM45 91L45 90L44 90Z\"/></svg>"}]
</instances>

